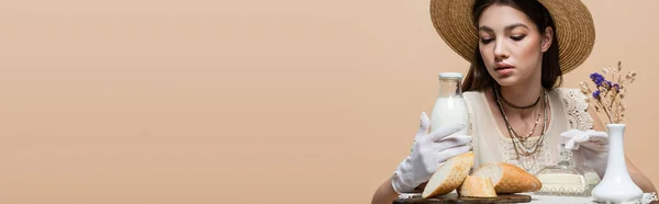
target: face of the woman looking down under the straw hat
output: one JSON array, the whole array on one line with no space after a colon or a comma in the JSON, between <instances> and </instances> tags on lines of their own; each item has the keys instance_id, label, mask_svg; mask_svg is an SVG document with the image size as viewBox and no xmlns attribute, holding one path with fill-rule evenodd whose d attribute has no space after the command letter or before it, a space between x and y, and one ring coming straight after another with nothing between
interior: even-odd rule
<instances>
[{"instance_id":1,"label":"face of the woman looking down under the straw hat","mask_svg":"<svg viewBox=\"0 0 659 204\"><path fill-rule=\"evenodd\" d=\"M483 10L478 26L480 54L499 84L540 83L543 53L551 44L551 29L541 35L522 11L498 4Z\"/></svg>"}]
</instances>

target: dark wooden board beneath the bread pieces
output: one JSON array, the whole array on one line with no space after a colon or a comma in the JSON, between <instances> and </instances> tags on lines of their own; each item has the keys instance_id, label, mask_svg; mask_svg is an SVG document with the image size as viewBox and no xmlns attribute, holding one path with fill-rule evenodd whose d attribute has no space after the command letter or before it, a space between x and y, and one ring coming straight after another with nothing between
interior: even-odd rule
<instances>
[{"instance_id":1,"label":"dark wooden board beneath the bread pieces","mask_svg":"<svg viewBox=\"0 0 659 204\"><path fill-rule=\"evenodd\" d=\"M499 194L496 199L459 197L457 194L447 194L437 197L423 199L399 199L393 204L435 204L435 203L528 203L530 195L524 194Z\"/></svg>"}]
</instances>

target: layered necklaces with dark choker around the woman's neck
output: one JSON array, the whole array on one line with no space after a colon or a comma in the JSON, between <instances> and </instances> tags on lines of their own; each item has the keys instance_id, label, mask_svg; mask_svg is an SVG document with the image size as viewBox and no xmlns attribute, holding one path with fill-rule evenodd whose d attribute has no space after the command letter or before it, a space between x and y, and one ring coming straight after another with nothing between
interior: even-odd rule
<instances>
[{"instance_id":1,"label":"layered necklaces with dark choker around the woman's neck","mask_svg":"<svg viewBox=\"0 0 659 204\"><path fill-rule=\"evenodd\" d=\"M538 152L538 150L540 149L540 146L543 146L543 141L545 140L545 134L547 133L547 121L548 121L547 106L549 104L549 99L547 98L547 92L543 91L543 93L540 94L540 97L538 97L538 100L536 100L536 102L534 104L522 107L522 109L528 109L528 107L535 106L540 101L540 98L543 98L543 103L541 103L543 110L538 112L538 115L537 115L537 118L536 118L536 122L535 122L533 128L525 136L521 136L520 134L517 134L517 132L515 132L515 129L513 129L513 127L511 126L511 123L510 123L507 115L505 114L505 111L503 110L503 105L501 103L503 100L506 104L510 105L510 102L505 101L505 99L503 98L503 95L501 95L501 92L499 91L498 88L494 88L494 95L496 97L496 104L499 106L499 111L501 112L501 115L503 115L503 121L505 122L505 126L507 127L509 134L513 140L513 147L515 149L515 154L517 155L517 159L520 159L521 156L528 157L528 156L533 156L536 152ZM513 105L511 105L511 106L513 106ZM515 107L515 106L513 106L513 107ZM535 132L536 127L538 126L541 115L544 115L541 134L535 143L527 145L525 141ZM525 169L526 169L526 167L525 167Z\"/></svg>"}]
</instances>

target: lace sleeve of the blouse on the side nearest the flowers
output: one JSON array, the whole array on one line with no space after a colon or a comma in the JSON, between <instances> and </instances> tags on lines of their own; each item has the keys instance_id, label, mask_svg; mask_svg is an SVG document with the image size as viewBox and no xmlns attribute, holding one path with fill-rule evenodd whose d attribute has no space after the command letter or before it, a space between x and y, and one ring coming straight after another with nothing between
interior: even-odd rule
<instances>
[{"instance_id":1,"label":"lace sleeve of the blouse on the side nearest the flowers","mask_svg":"<svg viewBox=\"0 0 659 204\"><path fill-rule=\"evenodd\" d=\"M567 113L569 128L591 129L593 118L588 113L588 98L579 89L560 89L559 93Z\"/></svg>"}]
</instances>

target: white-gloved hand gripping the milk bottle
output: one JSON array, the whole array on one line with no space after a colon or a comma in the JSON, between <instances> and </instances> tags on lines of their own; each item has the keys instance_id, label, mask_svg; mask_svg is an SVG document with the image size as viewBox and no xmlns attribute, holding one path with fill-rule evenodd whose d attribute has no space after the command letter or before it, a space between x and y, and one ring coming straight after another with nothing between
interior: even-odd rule
<instances>
[{"instance_id":1,"label":"white-gloved hand gripping the milk bottle","mask_svg":"<svg viewBox=\"0 0 659 204\"><path fill-rule=\"evenodd\" d=\"M428 134L429 126L431 120L425 112L421 113L412 152L398 166L392 178L391 185L399 194L412 192L428 181L442 162L469 151L471 136L451 135L466 124L444 126Z\"/></svg>"}]
</instances>

